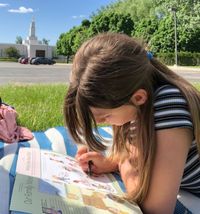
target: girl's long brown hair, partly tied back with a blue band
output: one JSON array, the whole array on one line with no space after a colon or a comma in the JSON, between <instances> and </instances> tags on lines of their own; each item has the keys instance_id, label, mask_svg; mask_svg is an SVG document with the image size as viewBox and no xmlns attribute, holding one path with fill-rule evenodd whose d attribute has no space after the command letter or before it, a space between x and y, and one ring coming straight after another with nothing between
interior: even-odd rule
<instances>
[{"instance_id":1,"label":"girl's long brown hair, partly tied back with a blue band","mask_svg":"<svg viewBox=\"0 0 200 214\"><path fill-rule=\"evenodd\" d=\"M194 134L200 148L200 95L195 88L155 58L148 59L145 49L124 34L104 33L85 42L75 55L70 86L65 98L66 125L77 143L87 142L96 151L104 150L97 125L89 107L116 108L130 103L138 89L145 89L148 99L137 107L134 145L138 151L139 185L131 199L141 203L147 192L156 152L153 114L154 85L158 82L177 86L188 100ZM131 138L130 123L113 126L113 156L127 152Z\"/></svg>"}]
</instances>

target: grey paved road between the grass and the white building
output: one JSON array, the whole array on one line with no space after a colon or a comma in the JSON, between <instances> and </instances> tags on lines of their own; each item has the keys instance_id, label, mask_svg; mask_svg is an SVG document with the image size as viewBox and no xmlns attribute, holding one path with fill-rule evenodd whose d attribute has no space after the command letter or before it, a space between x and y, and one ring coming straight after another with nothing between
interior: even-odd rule
<instances>
[{"instance_id":1,"label":"grey paved road between the grass and the white building","mask_svg":"<svg viewBox=\"0 0 200 214\"><path fill-rule=\"evenodd\" d=\"M191 82L200 82L200 68L170 67ZM0 62L0 85L8 83L68 83L70 64L23 65Z\"/></svg>"}]
</instances>

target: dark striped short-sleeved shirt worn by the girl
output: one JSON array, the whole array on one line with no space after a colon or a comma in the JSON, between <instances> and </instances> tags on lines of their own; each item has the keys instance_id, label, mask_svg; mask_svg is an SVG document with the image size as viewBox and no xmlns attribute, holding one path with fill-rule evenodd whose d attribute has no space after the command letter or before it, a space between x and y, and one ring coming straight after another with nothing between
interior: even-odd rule
<instances>
[{"instance_id":1,"label":"dark striped short-sleeved shirt worn by the girl","mask_svg":"<svg viewBox=\"0 0 200 214\"><path fill-rule=\"evenodd\" d=\"M156 130L179 127L193 130L186 99L172 85L163 85L155 91L154 120ZM188 153L181 189L200 196L200 158L195 140Z\"/></svg>"}]
</instances>

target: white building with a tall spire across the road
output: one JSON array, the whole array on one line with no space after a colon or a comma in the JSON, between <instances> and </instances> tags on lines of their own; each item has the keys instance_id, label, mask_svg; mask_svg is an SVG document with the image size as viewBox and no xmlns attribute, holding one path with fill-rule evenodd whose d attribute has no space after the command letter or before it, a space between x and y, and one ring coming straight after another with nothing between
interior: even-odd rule
<instances>
[{"instance_id":1,"label":"white building with a tall spire across the road","mask_svg":"<svg viewBox=\"0 0 200 214\"><path fill-rule=\"evenodd\" d=\"M32 20L29 29L29 36L23 40L22 44L3 44L0 43L0 57L6 57L5 49L15 47L21 56L25 57L48 57L52 58L55 54L55 46L42 44L35 35L35 21Z\"/></svg>"}]
</instances>

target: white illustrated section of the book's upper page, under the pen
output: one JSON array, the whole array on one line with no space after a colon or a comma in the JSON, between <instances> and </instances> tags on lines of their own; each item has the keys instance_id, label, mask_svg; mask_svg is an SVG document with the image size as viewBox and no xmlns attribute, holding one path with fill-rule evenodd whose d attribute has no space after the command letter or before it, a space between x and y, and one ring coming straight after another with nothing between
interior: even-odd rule
<instances>
[{"instance_id":1,"label":"white illustrated section of the book's upper page, under the pen","mask_svg":"<svg viewBox=\"0 0 200 214\"><path fill-rule=\"evenodd\" d=\"M49 151L41 151L41 178L117 193L108 176L104 174L98 177L88 176L74 158Z\"/></svg>"}]
</instances>

